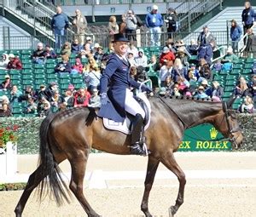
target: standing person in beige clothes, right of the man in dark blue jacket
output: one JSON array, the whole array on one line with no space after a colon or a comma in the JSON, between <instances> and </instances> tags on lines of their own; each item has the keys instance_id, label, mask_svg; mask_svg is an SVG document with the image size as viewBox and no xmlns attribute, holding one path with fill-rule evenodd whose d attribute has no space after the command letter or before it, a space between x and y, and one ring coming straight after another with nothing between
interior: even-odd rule
<instances>
[{"instance_id":1,"label":"standing person in beige clothes, right of the man in dark blue jacket","mask_svg":"<svg viewBox=\"0 0 256 217\"><path fill-rule=\"evenodd\" d=\"M76 15L73 19L73 31L79 38L79 43L84 44L84 35L87 28L87 20L79 9L75 11Z\"/></svg>"}]
</instances>

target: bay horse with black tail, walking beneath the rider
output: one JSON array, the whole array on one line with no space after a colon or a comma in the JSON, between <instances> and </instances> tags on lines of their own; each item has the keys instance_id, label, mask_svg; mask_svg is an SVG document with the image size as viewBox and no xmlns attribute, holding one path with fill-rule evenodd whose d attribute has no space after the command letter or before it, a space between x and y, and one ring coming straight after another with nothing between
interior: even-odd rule
<instances>
[{"instance_id":1,"label":"bay horse with black tail, walking beneath the rider","mask_svg":"<svg viewBox=\"0 0 256 217\"><path fill-rule=\"evenodd\" d=\"M186 184L185 174L173 155L183 140L184 130L201 123L212 123L218 131L224 134L225 138L229 138L234 142L233 144L240 146L241 129L236 121L236 115L230 110L234 100L222 103L154 96L149 101L152 108L151 123L145 135L151 153L148 155L141 210L146 217L152 216L148 211L149 192L159 163L163 163L166 168L176 174L179 181L176 203L169 208L169 212L173 216L183 204ZM104 128L102 118L96 116L96 111L86 107L60 111L45 117L40 126L39 135L40 160L38 168L29 177L26 188L15 208L16 216L21 216L28 197L40 183L40 197L44 195L44 187L48 184L49 188L46 193L49 191L53 193L58 205L61 205L64 200L68 201L67 192L70 191L66 191L67 186L61 180L61 170L58 167L58 164L66 159L72 168L70 190L73 191L88 216L100 216L90 207L83 192L84 174L90 149L129 155L131 136Z\"/></svg>"}]
</instances>

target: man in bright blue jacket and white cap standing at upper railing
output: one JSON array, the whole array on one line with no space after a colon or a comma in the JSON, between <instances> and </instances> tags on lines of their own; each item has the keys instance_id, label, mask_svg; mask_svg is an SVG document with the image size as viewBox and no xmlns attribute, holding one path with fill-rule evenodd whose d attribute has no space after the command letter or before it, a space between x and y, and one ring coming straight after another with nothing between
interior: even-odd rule
<instances>
[{"instance_id":1,"label":"man in bright blue jacket and white cap standing at upper railing","mask_svg":"<svg viewBox=\"0 0 256 217\"><path fill-rule=\"evenodd\" d=\"M151 47L160 46L161 26L164 25L163 17L158 13L158 6L153 5L150 13L146 15L146 26L150 31Z\"/></svg>"}]
</instances>

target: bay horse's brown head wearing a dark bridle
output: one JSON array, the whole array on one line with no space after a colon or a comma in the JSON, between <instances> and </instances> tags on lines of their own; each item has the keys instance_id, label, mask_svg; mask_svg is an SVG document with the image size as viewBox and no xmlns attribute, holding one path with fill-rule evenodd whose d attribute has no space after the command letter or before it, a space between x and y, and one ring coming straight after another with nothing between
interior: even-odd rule
<instances>
[{"instance_id":1,"label":"bay horse's brown head wearing a dark bridle","mask_svg":"<svg viewBox=\"0 0 256 217\"><path fill-rule=\"evenodd\" d=\"M235 100L236 98L230 98L228 102L223 102L223 110L219 112L213 123L225 138L229 138L233 149L239 148L243 139L241 128L236 119L237 112L232 110L232 104Z\"/></svg>"}]
</instances>

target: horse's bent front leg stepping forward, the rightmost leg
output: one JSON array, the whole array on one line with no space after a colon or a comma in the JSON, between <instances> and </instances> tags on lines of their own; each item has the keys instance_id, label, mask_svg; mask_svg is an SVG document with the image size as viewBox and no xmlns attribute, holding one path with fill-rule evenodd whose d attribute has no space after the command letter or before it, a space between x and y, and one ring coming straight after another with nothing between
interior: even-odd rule
<instances>
[{"instance_id":1,"label":"horse's bent front leg stepping forward, the rightmost leg","mask_svg":"<svg viewBox=\"0 0 256 217\"><path fill-rule=\"evenodd\" d=\"M172 151L169 151L169 153L166 154L165 157L161 158L160 161L166 166L166 168L169 168L173 174L176 174L177 180L179 181L176 203L169 209L169 214L174 216L174 214L177 213L177 209L183 204L184 188L186 185L185 174L183 173L183 170L177 165Z\"/></svg>"}]
</instances>

